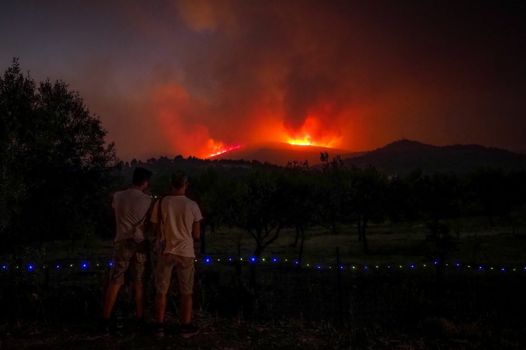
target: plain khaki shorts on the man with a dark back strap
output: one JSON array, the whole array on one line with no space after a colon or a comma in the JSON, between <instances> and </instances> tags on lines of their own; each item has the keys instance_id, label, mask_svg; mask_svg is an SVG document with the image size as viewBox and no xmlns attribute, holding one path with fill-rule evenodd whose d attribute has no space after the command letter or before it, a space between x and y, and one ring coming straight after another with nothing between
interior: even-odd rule
<instances>
[{"instance_id":1,"label":"plain khaki shorts on the man with a dark back strap","mask_svg":"<svg viewBox=\"0 0 526 350\"><path fill-rule=\"evenodd\" d=\"M179 292L181 294L192 294L194 291L194 258L175 254L162 254L157 261L155 272L157 293L166 294L170 286L171 271L176 268L179 280Z\"/></svg>"}]
</instances>

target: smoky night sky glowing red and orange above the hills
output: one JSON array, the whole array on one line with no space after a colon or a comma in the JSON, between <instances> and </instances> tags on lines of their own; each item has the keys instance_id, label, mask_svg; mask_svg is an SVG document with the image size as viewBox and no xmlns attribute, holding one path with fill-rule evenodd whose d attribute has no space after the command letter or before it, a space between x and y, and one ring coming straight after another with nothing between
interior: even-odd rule
<instances>
[{"instance_id":1,"label":"smoky night sky glowing red and orange above the hills","mask_svg":"<svg viewBox=\"0 0 526 350\"><path fill-rule=\"evenodd\" d=\"M0 69L66 81L123 160L266 141L526 150L524 1L108 3L3 0Z\"/></svg>"}]
</instances>

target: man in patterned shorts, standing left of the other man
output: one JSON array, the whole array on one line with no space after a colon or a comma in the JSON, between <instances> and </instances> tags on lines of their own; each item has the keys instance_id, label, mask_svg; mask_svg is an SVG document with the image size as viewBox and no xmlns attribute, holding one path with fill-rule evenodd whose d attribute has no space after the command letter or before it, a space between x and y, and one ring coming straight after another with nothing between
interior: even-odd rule
<instances>
[{"instance_id":1,"label":"man in patterned shorts, standing left of the other man","mask_svg":"<svg viewBox=\"0 0 526 350\"><path fill-rule=\"evenodd\" d=\"M136 168L131 180L131 188L116 192L112 208L115 211L116 234L109 287L106 291L102 317L102 329L108 331L108 320L112 314L120 286L129 266L133 267L135 284L135 303L139 326L144 326L144 273L148 251L145 240L145 223L148 222L151 197L144 192L148 189L151 172Z\"/></svg>"}]
</instances>

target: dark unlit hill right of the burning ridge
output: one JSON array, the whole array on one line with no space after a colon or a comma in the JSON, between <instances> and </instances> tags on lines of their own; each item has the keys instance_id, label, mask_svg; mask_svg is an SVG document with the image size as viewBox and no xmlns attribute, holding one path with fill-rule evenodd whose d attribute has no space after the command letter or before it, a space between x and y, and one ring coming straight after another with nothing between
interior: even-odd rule
<instances>
[{"instance_id":1,"label":"dark unlit hill right of the burning ridge","mask_svg":"<svg viewBox=\"0 0 526 350\"><path fill-rule=\"evenodd\" d=\"M526 155L480 145L432 146L399 140L343 161L359 168L369 165L390 172L421 169L433 172L468 172L479 167L498 167L505 171L526 169Z\"/></svg>"}]
</instances>

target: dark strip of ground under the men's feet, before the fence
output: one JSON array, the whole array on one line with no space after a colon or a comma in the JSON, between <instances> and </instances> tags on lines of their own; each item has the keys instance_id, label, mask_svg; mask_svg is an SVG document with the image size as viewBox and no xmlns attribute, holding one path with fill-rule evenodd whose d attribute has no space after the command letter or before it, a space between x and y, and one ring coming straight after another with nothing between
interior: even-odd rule
<instances>
[{"instance_id":1,"label":"dark strip of ground under the men's feet, before the fence","mask_svg":"<svg viewBox=\"0 0 526 350\"><path fill-rule=\"evenodd\" d=\"M433 318L404 329L381 326L333 327L330 323L286 321L257 324L198 314L200 333L183 339L173 320L166 336L137 332L125 320L120 332L109 335L93 324L2 325L0 349L524 349L525 330L458 324Z\"/></svg>"}]
</instances>

